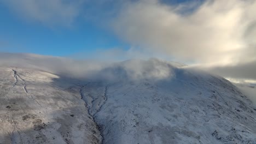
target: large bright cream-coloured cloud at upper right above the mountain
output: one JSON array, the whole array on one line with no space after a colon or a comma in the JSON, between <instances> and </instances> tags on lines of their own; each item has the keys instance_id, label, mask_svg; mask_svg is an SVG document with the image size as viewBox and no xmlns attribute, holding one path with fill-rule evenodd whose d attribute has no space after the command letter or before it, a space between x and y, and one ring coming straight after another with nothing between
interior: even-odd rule
<instances>
[{"instance_id":1,"label":"large bright cream-coloured cloud at upper right above the mountain","mask_svg":"<svg viewBox=\"0 0 256 144\"><path fill-rule=\"evenodd\" d=\"M185 13L187 9L191 13ZM179 61L236 64L255 59L255 13L255 1L179 5L138 1L120 11L112 20L112 28L132 45L166 53Z\"/></svg>"}]
</instances>

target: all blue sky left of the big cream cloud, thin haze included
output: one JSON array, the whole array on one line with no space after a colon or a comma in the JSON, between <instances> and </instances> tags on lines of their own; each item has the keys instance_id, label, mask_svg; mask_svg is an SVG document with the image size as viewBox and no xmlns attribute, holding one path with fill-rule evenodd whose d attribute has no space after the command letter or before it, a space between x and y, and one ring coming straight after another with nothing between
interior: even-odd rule
<instances>
[{"instance_id":1,"label":"all blue sky left of the big cream cloud, thin haze included","mask_svg":"<svg viewBox=\"0 0 256 144\"><path fill-rule=\"evenodd\" d=\"M129 50L134 45L120 39L110 28L110 21L117 16L115 13L121 12L121 7L132 2L136 1L3 0L0 51L70 56L109 49Z\"/></svg>"}]
</instances>

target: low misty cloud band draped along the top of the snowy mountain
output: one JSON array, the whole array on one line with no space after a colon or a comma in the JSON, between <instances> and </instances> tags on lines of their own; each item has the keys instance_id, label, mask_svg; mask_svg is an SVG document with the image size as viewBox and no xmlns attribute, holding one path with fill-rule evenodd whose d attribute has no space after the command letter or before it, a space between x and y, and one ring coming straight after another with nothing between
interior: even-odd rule
<instances>
[{"instance_id":1,"label":"low misty cloud band draped along the top of the snowy mountain","mask_svg":"<svg viewBox=\"0 0 256 144\"><path fill-rule=\"evenodd\" d=\"M28 53L1 53L0 67L41 70L58 76L86 80L137 81L171 79L174 67L158 59L133 59L123 62L82 61L65 57L41 56Z\"/></svg>"}]
</instances>

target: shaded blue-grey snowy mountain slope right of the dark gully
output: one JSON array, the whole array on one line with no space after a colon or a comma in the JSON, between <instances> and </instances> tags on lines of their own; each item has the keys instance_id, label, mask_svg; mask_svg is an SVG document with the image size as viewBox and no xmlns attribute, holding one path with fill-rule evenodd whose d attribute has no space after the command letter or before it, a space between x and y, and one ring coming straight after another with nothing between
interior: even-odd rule
<instances>
[{"instance_id":1,"label":"shaded blue-grey snowy mountain slope right of the dark gully","mask_svg":"<svg viewBox=\"0 0 256 144\"><path fill-rule=\"evenodd\" d=\"M234 85L199 71L170 69L167 79L85 87L104 143L256 142L256 109Z\"/></svg>"}]
</instances>

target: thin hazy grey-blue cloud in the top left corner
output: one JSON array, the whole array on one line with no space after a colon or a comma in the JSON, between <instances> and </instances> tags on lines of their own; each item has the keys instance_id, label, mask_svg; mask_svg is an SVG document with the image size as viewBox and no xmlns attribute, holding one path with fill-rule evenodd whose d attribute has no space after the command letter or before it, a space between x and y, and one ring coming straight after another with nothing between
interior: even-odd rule
<instances>
[{"instance_id":1,"label":"thin hazy grey-blue cloud in the top left corner","mask_svg":"<svg viewBox=\"0 0 256 144\"><path fill-rule=\"evenodd\" d=\"M4 0L11 11L28 20L47 26L71 26L81 10L83 0Z\"/></svg>"}]
</instances>

